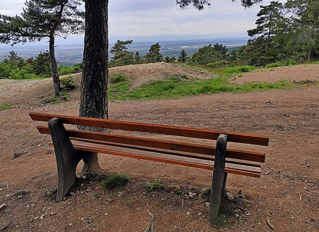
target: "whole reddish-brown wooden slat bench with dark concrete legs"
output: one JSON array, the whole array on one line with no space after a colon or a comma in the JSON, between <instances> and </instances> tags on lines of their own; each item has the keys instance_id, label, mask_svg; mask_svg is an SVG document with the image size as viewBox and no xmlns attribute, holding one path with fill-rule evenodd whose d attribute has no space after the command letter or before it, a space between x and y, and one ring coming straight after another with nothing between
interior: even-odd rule
<instances>
[{"instance_id":1,"label":"whole reddish-brown wooden slat bench with dark concrete legs","mask_svg":"<svg viewBox=\"0 0 319 232\"><path fill-rule=\"evenodd\" d=\"M57 202L62 201L74 184L76 166L82 158L86 162L86 152L97 152L213 170L209 219L217 217L227 173L259 178L261 163L265 162L265 153L227 148L227 142L262 146L269 142L268 136L259 134L42 113L29 116L48 122L48 126L37 126L37 129L52 137L58 170ZM64 124L108 128L112 133L65 129ZM119 130L140 135L169 135L165 136L169 139L123 135ZM181 142L177 136L217 141L216 146L204 145Z\"/></svg>"}]
</instances>

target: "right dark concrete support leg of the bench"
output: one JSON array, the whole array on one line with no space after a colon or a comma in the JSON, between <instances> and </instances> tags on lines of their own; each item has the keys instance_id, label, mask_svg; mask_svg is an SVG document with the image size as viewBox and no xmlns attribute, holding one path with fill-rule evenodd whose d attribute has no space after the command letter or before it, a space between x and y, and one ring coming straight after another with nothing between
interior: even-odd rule
<instances>
[{"instance_id":1,"label":"right dark concrete support leg of the bench","mask_svg":"<svg viewBox=\"0 0 319 232\"><path fill-rule=\"evenodd\" d=\"M217 218L221 197L226 185L227 173L225 175L227 135L220 134L217 138L213 180L211 184L208 220Z\"/></svg>"}]
</instances>

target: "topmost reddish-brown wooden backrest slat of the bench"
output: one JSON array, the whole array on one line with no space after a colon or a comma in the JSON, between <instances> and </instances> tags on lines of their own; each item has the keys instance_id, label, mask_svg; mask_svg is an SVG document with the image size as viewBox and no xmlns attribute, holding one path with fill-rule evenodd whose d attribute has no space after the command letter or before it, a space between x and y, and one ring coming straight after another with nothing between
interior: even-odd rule
<instances>
[{"instance_id":1,"label":"topmost reddish-brown wooden backrest slat of the bench","mask_svg":"<svg viewBox=\"0 0 319 232\"><path fill-rule=\"evenodd\" d=\"M91 117L63 116L55 114L30 113L29 116L37 121L49 121L53 117L59 117L63 123L102 127L110 129L132 130L149 133L159 133L167 135L178 135L193 138L204 138L216 140L219 134L227 134L229 142L239 142L255 145L268 146L269 137L267 135L239 133L222 130L210 130L200 128L189 128L180 126L159 125L150 123L139 123L129 121L117 121L110 119L100 119Z\"/></svg>"}]
</instances>

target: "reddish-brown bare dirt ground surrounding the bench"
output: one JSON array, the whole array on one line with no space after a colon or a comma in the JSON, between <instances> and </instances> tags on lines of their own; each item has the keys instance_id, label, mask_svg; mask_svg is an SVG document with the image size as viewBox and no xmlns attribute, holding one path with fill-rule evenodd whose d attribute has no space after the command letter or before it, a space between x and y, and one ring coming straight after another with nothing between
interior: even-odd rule
<instances>
[{"instance_id":1,"label":"reddish-brown bare dirt ground surrounding the bench","mask_svg":"<svg viewBox=\"0 0 319 232\"><path fill-rule=\"evenodd\" d=\"M292 66L255 71L236 81L318 80L318 73L319 65ZM32 121L28 113L78 115L79 90L68 102L42 105L52 96L52 86L50 80L0 80L0 105L14 106L0 112L1 232L143 232L150 220L147 209L156 217L156 232L272 231L267 218L279 232L319 231L318 84L109 104L112 119L270 136L268 147L254 147L266 152L260 179L228 177L227 190L241 190L244 199L238 200L236 220L224 229L210 228L207 199L199 197L201 189L210 185L212 173L190 167L100 155L104 172L128 174L129 186L105 192L96 180L79 180L65 201L55 203L47 196L57 185L50 137L37 132L41 123ZM145 183L155 178L180 186L181 193L147 191ZM13 195L19 190L28 193ZM189 191L197 193L194 199L185 196Z\"/></svg>"}]
</instances>

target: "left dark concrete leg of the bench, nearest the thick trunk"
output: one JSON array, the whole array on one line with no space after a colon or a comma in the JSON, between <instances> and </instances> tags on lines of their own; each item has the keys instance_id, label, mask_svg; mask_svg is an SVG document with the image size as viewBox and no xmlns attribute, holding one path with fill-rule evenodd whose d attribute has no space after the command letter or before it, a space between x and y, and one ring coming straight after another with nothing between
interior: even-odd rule
<instances>
[{"instance_id":1,"label":"left dark concrete leg of the bench, nearest the thick trunk","mask_svg":"<svg viewBox=\"0 0 319 232\"><path fill-rule=\"evenodd\" d=\"M54 117L49 120L48 127L52 137L58 170L56 201L61 202L65 194L75 183L75 171L81 160L81 156L77 155L77 151L74 149L60 118Z\"/></svg>"}]
</instances>

